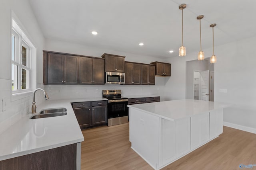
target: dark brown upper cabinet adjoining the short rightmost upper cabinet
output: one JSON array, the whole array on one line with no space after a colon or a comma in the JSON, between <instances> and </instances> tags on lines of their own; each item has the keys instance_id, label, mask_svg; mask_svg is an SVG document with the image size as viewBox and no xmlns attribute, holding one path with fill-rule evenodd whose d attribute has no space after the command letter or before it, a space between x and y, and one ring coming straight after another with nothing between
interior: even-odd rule
<instances>
[{"instance_id":1,"label":"dark brown upper cabinet adjoining the short rightmost upper cabinet","mask_svg":"<svg viewBox=\"0 0 256 170\"><path fill-rule=\"evenodd\" d=\"M141 84L155 85L155 66L141 64Z\"/></svg>"}]
</instances>

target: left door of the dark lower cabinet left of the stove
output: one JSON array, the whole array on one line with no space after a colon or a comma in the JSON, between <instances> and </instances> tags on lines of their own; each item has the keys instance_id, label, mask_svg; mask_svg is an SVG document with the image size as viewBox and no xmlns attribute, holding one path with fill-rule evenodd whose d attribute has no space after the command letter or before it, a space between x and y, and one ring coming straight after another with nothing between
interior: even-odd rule
<instances>
[{"instance_id":1,"label":"left door of the dark lower cabinet left of the stove","mask_svg":"<svg viewBox=\"0 0 256 170\"><path fill-rule=\"evenodd\" d=\"M74 113L80 127L87 127L91 125L92 113L90 107L74 109Z\"/></svg>"}]
</instances>

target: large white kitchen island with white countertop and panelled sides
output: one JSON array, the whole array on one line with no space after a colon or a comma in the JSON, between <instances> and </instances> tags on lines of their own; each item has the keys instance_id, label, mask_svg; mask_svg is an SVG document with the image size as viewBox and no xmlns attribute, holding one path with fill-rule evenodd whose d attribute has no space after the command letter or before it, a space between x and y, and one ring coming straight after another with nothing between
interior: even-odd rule
<instances>
[{"instance_id":1,"label":"large white kitchen island with white countertop and panelled sides","mask_svg":"<svg viewBox=\"0 0 256 170\"><path fill-rule=\"evenodd\" d=\"M184 99L128 107L131 148L158 170L218 137L228 105Z\"/></svg>"}]
</instances>

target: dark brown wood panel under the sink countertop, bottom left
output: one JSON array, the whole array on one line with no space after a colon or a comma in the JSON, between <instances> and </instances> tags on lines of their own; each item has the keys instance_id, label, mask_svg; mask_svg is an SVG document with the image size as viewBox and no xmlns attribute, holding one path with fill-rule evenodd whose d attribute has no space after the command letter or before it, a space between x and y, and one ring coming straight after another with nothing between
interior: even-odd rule
<instances>
[{"instance_id":1,"label":"dark brown wood panel under the sink countertop, bottom left","mask_svg":"<svg viewBox=\"0 0 256 170\"><path fill-rule=\"evenodd\" d=\"M0 170L76 170L76 143L2 160Z\"/></svg>"}]
</instances>

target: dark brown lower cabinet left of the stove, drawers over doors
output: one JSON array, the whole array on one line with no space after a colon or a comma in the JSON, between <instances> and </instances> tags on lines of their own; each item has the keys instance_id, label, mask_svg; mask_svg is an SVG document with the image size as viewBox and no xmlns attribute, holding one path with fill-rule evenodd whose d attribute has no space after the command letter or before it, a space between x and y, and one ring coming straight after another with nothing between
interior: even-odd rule
<instances>
[{"instance_id":1,"label":"dark brown lower cabinet left of the stove, drawers over doors","mask_svg":"<svg viewBox=\"0 0 256 170\"><path fill-rule=\"evenodd\" d=\"M72 103L76 119L81 129L107 125L108 101L76 102Z\"/></svg>"}]
</instances>

